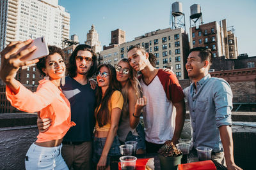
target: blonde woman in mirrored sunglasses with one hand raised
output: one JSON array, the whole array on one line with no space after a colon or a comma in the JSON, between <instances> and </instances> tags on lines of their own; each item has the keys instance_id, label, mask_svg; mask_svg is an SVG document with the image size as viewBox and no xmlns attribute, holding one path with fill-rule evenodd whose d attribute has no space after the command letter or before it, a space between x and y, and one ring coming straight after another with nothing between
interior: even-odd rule
<instances>
[{"instance_id":1,"label":"blonde woman in mirrored sunglasses with one hand raised","mask_svg":"<svg viewBox=\"0 0 256 170\"><path fill-rule=\"evenodd\" d=\"M137 73L132 69L128 59L121 59L116 66L116 79L122 85L124 108L118 127L120 143L125 141L138 142L136 154L145 153L145 132L140 124L141 109L147 104L147 98L142 97L142 89L137 79Z\"/></svg>"}]
</instances>

